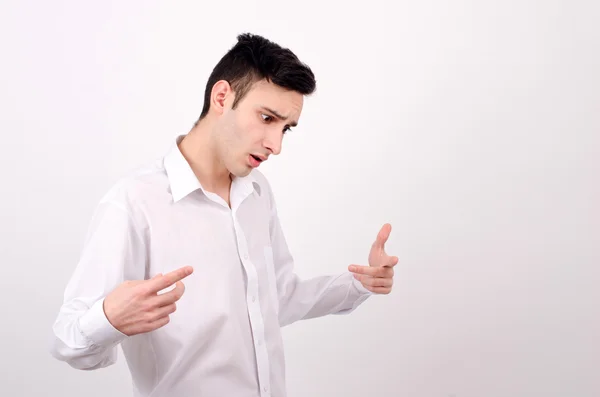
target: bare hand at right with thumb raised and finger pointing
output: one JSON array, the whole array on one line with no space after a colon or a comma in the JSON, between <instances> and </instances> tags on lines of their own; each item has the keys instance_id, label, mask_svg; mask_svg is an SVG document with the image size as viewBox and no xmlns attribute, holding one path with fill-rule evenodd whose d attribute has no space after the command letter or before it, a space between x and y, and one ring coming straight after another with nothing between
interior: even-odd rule
<instances>
[{"instance_id":1,"label":"bare hand at right with thumb raised and finger pointing","mask_svg":"<svg viewBox=\"0 0 600 397\"><path fill-rule=\"evenodd\" d=\"M348 270L369 291L376 294L389 294L392 292L394 266L398 257L390 256L385 252L385 243L390 237L392 226L383 225L369 253L369 266L350 265Z\"/></svg>"}]
</instances>

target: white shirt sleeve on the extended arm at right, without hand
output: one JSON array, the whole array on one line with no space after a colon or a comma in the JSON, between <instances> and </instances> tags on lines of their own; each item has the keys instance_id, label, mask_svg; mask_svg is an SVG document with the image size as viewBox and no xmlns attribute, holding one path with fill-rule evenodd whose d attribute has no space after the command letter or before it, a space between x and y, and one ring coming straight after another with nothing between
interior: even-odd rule
<instances>
[{"instance_id":1,"label":"white shirt sleeve on the extended arm at right, without hand","mask_svg":"<svg viewBox=\"0 0 600 397\"><path fill-rule=\"evenodd\" d=\"M272 195L270 222L271 249L279 297L279 323L282 327L328 314L349 314L373 295L349 271L301 279L294 272L294 260Z\"/></svg>"}]
</instances>

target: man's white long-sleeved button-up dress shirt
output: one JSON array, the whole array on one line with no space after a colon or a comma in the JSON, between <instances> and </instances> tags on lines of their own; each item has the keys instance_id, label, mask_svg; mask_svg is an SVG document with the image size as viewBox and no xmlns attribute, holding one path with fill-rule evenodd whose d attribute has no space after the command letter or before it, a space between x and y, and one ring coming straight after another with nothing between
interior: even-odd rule
<instances>
[{"instance_id":1,"label":"man's white long-sleeved button-up dress shirt","mask_svg":"<svg viewBox=\"0 0 600 397\"><path fill-rule=\"evenodd\" d=\"M285 397L280 328L349 313L372 294L347 271L299 279L264 175L234 178L230 208L202 188L182 138L98 204L52 355L93 370L115 363L120 345L136 397ZM127 336L107 320L103 299L123 281L185 265L194 272L170 323Z\"/></svg>"}]
</instances>

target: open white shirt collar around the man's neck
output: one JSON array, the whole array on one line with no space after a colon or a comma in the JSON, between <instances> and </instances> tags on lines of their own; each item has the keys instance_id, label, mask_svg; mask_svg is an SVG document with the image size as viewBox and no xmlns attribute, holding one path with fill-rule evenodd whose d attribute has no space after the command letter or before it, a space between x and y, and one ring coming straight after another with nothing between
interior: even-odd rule
<instances>
[{"instance_id":1,"label":"open white shirt collar around the man's neck","mask_svg":"<svg viewBox=\"0 0 600 397\"><path fill-rule=\"evenodd\" d=\"M212 193L204 190L200 181L198 181L198 178L194 174L194 171L192 171L192 168L179 149L179 143L184 137L185 135L179 135L176 138L171 149L163 159L174 202L183 199L188 194L198 189L207 196L212 195ZM254 190L260 194L260 186L258 186L258 182L252 173L245 177L233 178L231 190L232 193L239 191L244 196L251 194Z\"/></svg>"}]
</instances>

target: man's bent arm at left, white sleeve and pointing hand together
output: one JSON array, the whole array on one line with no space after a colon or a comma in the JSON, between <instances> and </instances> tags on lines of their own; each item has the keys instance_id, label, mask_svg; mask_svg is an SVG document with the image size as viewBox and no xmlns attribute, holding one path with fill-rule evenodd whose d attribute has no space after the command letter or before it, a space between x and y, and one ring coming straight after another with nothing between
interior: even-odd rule
<instances>
[{"instance_id":1,"label":"man's bent arm at left, white sleeve and pointing hand together","mask_svg":"<svg viewBox=\"0 0 600 397\"><path fill-rule=\"evenodd\" d=\"M116 362L128 336L169 322L184 292L189 266L145 280L142 227L130 210L103 201L94 214L81 259L53 325L50 352L74 368L92 370ZM160 291L175 284L169 292Z\"/></svg>"}]
</instances>

